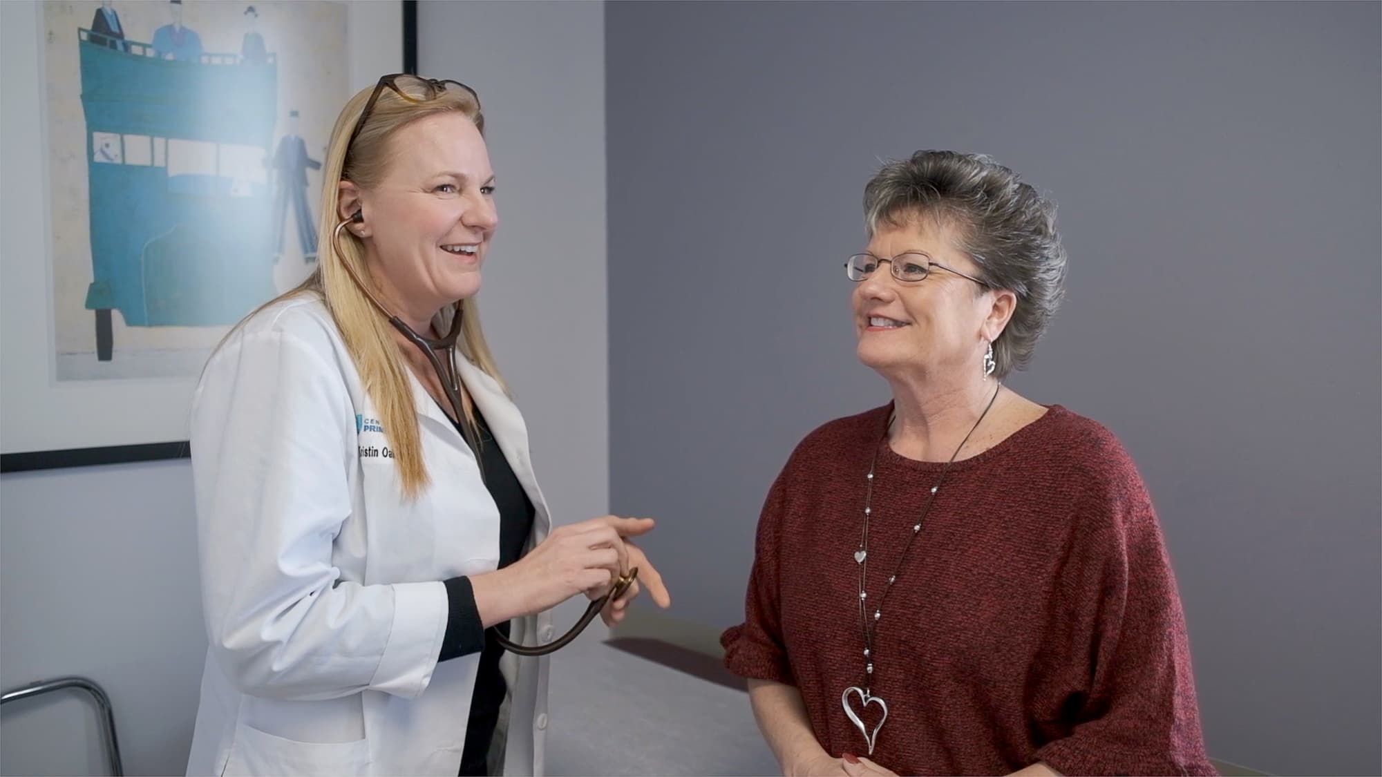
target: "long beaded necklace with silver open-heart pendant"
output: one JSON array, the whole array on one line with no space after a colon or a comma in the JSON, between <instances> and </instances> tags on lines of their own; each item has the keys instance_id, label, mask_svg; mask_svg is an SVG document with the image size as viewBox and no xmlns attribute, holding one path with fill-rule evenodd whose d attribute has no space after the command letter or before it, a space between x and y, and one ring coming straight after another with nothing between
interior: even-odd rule
<instances>
[{"instance_id":1,"label":"long beaded necklace with silver open-heart pendant","mask_svg":"<svg viewBox=\"0 0 1382 777\"><path fill-rule=\"evenodd\" d=\"M887 434L893 429L893 420L896 420L897 418L896 413L889 415L887 426L883 427L883 438L879 440L878 445L873 447L873 460L869 462L868 474L865 476L868 487L864 495L864 531L860 535L858 550L854 552L854 564L858 565L860 570L860 630L862 630L864 633L864 686L862 687L850 686L844 689L843 694L840 694L840 705L844 706L844 715L850 719L851 723L854 723L854 726L860 730L860 733L864 734L864 741L868 744L869 755L873 755L873 745L878 741L878 733L880 729L883 729L883 723L887 722L887 702L883 701L883 697L876 695L872 687L873 659L875 659L873 637L878 635L878 624L883 618L883 604L887 604L887 595L893 590L893 583L897 582L897 575L902 571L902 565L907 563L907 557L912 552L912 543L916 541L916 535L922 532L922 524L926 521L927 513L931 512L931 505L936 502L936 495L940 492L941 484L945 483L945 473L949 471L949 466L955 463L955 456L959 456L960 449L965 448L965 444L969 442L970 437L973 437L974 430L978 429L978 424L984 422L985 416L988 416L988 411L994 408L994 402L998 400L998 391L1001 391L1002 387L1003 384L999 383L998 387L994 388L994 395L990 397L988 405L984 406L984 412L978 413L978 420L974 422L974 426L969 427L969 434L965 436L965 440L960 440L959 447L955 448L955 452L951 453L949 460L945 462L944 467L941 467L941 474L940 477L936 478L936 485L931 487L931 492L926 498L926 505L922 507L922 514L918 516L916 524L912 525L912 534L911 536L907 538L907 547L902 549L902 556L901 559L897 560L897 567L893 568L893 574L887 577L887 582L883 585L883 595L878 597L878 604L873 606L873 611L872 614L869 614L868 530L869 530L869 518L872 517L873 513L873 473L878 469L878 452L879 449L883 448L883 445L887 444ZM858 697L860 701L858 711L855 711L854 706L850 705L851 697ZM873 730L869 731L868 726L864 724L861 713L867 711L872 704L876 704L883 715L882 718L879 718L878 724L873 726Z\"/></svg>"}]
</instances>

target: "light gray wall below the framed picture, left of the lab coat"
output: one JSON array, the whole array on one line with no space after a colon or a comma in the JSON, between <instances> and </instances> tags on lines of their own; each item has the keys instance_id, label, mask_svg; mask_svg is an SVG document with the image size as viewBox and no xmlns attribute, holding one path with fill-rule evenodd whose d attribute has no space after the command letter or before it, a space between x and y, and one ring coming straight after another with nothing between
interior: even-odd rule
<instances>
[{"instance_id":1,"label":"light gray wall below the framed picture, left of the lab coat","mask_svg":"<svg viewBox=\"0 0 1382 777\"><path fill-rule=\"evenodd\" d=\"M111 695L127 774L181 774L206 633L187 462L0 478L0 684ZM6 705L0 773L106 774L97 716L61 691Z\"/></svg>"}]
</instances>

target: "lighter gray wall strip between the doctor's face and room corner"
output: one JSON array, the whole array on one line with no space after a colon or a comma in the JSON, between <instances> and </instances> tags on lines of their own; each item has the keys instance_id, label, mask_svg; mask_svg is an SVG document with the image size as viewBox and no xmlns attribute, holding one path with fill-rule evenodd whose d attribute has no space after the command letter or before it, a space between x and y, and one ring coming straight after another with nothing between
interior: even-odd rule
<instances>
[{"instance_id":1,"label":"lighter gray wall strip between the doctor's face and room corner","mask_svg":"<svg viewBox=\"0 0 1382 777\"><path fill-rule=\"evenodd\" d=\"M557 523L608 512L604 4L420 3L417 69L480 93L498 181L485 336ZM558 608L575 622L585 600ZM593 624L587 639L605 633Z\"/></svg>"}]
</instances>

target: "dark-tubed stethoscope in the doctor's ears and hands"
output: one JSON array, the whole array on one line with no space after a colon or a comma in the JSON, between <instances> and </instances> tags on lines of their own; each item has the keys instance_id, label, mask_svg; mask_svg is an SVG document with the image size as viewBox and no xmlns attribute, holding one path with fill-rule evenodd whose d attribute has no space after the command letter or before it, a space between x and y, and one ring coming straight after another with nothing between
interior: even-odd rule
<instances>
[{"instance_id":1,"label":"dark-tubed stethoscope in the doctor's ears and hands","mask_svg":"<svg viewBox=\"0 0 1382 777\"><path fill-rule=\"evenodd\" d=\"M452 411L456 413L456 419L459 422L456 426L460 427L462 430L460 436L466 440L466 445L470 447L471 453L475 455L475 463L480 466L480 478L481 481L484 481L485 469L480 458L480 441L474 440L474 434L470 430L470 427L466 423L460 422L460 419L466 418L463 409L464 405L460 401L460 380L456 373L456 362L455 362L456 339L460 336L460 303L456 303L456 314L451 318L451 329L446 332L446 335L441 336L439 339L423 337L422 335L415 332L412 326L408 326L408 324L404 324L401 318L390 312L388 308L384 307L384 303L379 301L379 297L376 297L375 293L369 290L369 286L366 286L361 281L361 278L355 275L355 268L351 267L350 261L347 261L346 257L341 256L340 250L341 230L344 230L351 224L363 224L363 223L365 223L365 213L357 210L350 217L350 221L341 221L340 224L337 224L336 231L332 234L332 250L336 252L336 259L340 260L341 267L344 267L346 272L350 274L350 278L351 281L355 282L355 286L358 286L361 292L365 292L365 296L369 297L369 301L388 318L388 322L394 326L394 329L397 329L399 335L406 337L409 343L416 346L417 350L427 357L427 361L431 362L433 369L437 371L437 379L441 382L442 391L446 393L446 401L451 404ZM451 358L449 371L442 366L442 361L441 358L437 357L437 351L449 353ZM562 635L561 639L557 639L547 644L529 647L525 644L510 642L509 637L506 637L503 632L500 632L496 626L489 626L489 630L492 632L495 642L498 642L500 647L517 655L547 655L549 653L556 653L562 647L571 644L571 640L576 639L576 636L579 636L580 632L583 632L585 628L590 625L590 621L594 621L596 615L600 614L600 610L603 610L604 606L608 604L609 601L623 596L623 593L629 590L629 586L633 585L633 581L636 579L638 579L637 567L619 575L619 578L614 582L614 586L609 589L608 593L591 601L590 606L586 607L586 612L580 617L579 621L576 621L576 625L572 626L569 632Z\"/></svg>"}]
</instances>

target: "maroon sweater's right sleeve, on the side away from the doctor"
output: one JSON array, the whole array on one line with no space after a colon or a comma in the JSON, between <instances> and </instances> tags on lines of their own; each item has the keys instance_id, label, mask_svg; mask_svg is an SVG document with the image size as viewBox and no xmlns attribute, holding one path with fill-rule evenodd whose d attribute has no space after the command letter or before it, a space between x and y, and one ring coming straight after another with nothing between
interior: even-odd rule
<instances>
[{"instance_id":1,"label":"maroon sweater's right sleeve, on the side away from the doctor","mask_svg":"<svg viewBox=\"0 0 1382 777\"><path fill-rule=\"evenodd\" d=\"M1070 736L1046 742L1036 760L1061 774L1215 774L1151 498L1117 441L1100 448L1061 607L1089 624L1089 689Z\"/></svg>"}]
</instances>

